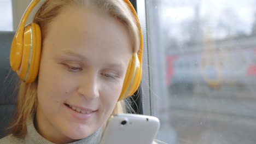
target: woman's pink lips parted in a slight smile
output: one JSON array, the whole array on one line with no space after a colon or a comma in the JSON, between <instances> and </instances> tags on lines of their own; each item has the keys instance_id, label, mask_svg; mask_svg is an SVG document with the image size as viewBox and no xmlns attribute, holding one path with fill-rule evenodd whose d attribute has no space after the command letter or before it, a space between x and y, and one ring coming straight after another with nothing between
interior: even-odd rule
<instances>
[{"instance_id":1,"label":"woman's pink lips parted in a slight smile","mask_svg":"<svg viewBox=\"0 0 256 144\"><path fill-rule=\"evenodd\" d=\"M95 115L95 113L97 112L97 110L90 110L90 109L86 109L81 106L70 105L70 106L77 107L78 109L81 109L81 110L91 111L90 113L81 113L81 112L73 110L71 107L69 107L66 104L64 104L64 105L68 109L68 112L71 113L72 117L74 117L76 119L86 120L86 119L89 119L90 117L92 117L93 115Z\"/></svg>"}]
</instances>

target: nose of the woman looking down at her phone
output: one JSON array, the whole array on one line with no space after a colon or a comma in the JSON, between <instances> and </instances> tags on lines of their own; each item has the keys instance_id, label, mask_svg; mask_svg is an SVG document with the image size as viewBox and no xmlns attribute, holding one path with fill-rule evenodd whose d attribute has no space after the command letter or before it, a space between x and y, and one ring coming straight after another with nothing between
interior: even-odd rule
<instances>
[{"instance_id":1,"label":"nose of the woman looking down at her phone","mask_svg":"<svg viewBox=\"0 0 256 144\"><path fill-rule=\"evenodd\" d=\"M78 95L84 97L86 100L94 100L98 98L98 82L97 77L93 74L87 74L81 77L77 87Z\"/></svg>"}]
</instances>

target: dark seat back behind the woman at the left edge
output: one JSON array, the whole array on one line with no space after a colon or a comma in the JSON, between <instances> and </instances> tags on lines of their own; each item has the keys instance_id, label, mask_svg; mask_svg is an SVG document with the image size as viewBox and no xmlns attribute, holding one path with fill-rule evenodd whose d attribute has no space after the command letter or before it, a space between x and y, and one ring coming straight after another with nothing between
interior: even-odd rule
<instances>
[{"instance_id":1,"label":"dark seat back behind the woman at the left edge","mask_svg":"<svg viewBox=\"0 0 256 144\"><path fill-rule=\"evenodd\" d=\"M0 32L0 139L6 135L5 128L10 122L16 104L17 94L14 87L18 76L11 71L9 64L10 45L14 34Z\"/></svg>"}]
</instances>

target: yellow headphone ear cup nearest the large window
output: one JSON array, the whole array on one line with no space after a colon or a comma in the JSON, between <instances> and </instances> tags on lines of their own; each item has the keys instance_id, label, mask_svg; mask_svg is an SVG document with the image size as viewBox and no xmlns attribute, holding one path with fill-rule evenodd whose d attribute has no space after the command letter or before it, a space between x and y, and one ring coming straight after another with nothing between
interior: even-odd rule
<instances>
[{"instance_id":1,"label":"yellow headphone ear cup nearest the large window","mask_svg":"<svg viewBox=\"0 0 256 144\"><path fill-rule=\"evenodd\" d=\"M125 99L136 92L141 82L141 77L141 64L139 63L138 55L134 54L127 68L123 89L121 91L118 101Z\"/></svg>"}]
</instances>

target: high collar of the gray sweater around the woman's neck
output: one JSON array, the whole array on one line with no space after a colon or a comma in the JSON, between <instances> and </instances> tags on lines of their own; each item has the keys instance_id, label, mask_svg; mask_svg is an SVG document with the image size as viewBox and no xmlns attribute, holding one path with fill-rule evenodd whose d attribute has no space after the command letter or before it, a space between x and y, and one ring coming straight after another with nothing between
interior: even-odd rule
<instances>
[{"instance_id":1,"label":"high collar of the gray sweater around the woman's neck","mask_svg":"<svg viewBox=\"0 0 256 144\"><path fill-rule=\"evenodd\" d=\"M78 140L69 144L98 144L101 140L101 131L102 128L98 129L97 131L82 140ZM28 144L54 144L44 139L44 137L37 132L36 128L34 128L33 118L30 118L30 120L27 122L27 135L25 137L25 141Z\"/></svg>"}]
</instances>

